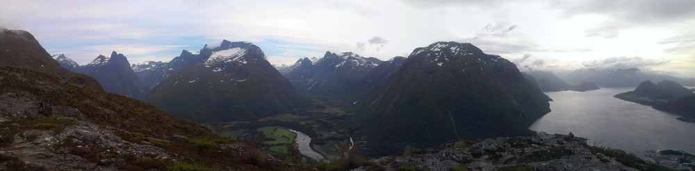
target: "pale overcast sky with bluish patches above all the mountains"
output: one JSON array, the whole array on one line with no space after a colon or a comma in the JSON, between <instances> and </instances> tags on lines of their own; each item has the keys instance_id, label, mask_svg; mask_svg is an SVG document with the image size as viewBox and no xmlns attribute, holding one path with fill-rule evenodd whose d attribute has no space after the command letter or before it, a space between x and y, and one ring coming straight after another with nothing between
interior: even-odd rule
<instances>
[{"instance_id":1,"label":"pale overcast sky with bluish patches above all the mountains","mask_svg":"<svg viewBox=\"0 0 695 171\"><path fill-rule=\"evenodd\" d=\"M6 1L0 26L80 64L111 51L169 61L254 42L273 64L325 51L382 60L470 42L522 70L638 67L695 77L695 1Z\"/></svg>"}]
</instances>

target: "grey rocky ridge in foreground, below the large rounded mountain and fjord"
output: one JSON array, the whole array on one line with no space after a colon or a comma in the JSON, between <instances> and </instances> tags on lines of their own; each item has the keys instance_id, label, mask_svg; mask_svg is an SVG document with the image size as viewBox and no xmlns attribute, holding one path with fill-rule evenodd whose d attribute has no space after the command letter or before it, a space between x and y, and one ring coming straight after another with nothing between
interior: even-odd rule
<instances>
[{"instance_id":1,"label":"grey rocky ridge in foreground, below the large rounded mountain and fjord","mask_svg":"<svg viewBox=\"0 0 695 171\"><path fill-rule=\"evenodd\" d=\"M630 165L630 166L628 166ZM537 136L457 141L433 150L366 161L356 170L660 170L621 150L587 145L586 138Z\"/></svg>"}]
</instances>

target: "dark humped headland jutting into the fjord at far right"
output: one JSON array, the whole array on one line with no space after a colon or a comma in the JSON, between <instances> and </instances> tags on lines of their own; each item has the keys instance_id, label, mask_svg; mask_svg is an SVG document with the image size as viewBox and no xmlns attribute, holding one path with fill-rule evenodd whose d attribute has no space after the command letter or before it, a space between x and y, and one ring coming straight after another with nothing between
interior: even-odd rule
<instances>
[{"instance_id":1,"label":"dark humped headland jutting into the fjord at far right","mask_svg":"<svg viewBox=\"0 0 695 171\"><path fill-rule=\"evenodd\" d=\"M634 90L616 94L615 98L637 102L641 105L660 105L676 98L693 96L695 93L682 87L676 82L665 80L654 84L651 81L644 81Z\"/></svg>"}]
</instances>

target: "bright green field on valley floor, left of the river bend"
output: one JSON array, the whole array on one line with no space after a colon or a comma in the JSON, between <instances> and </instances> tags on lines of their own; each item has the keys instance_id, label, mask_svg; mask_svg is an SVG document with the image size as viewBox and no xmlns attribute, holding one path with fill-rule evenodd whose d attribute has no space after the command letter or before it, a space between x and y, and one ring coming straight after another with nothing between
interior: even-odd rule
<instances>
[{"instance_id":1,"label":"bright green field on valley floor, left of the river bend","mask_svg":"<svg viewBox=\"0 0 695 171\"><path fill-rule=\"evenodd\" d=\"M270 146L270 151L279 152L281 154L287 153L286 144L295 143L295 138L297 134L291 132L283 127L260 127L256 129L259 132L263 132L265 138L272 138L273 141L264 141L265 145Z\"/></svg>"}]
</instances>

